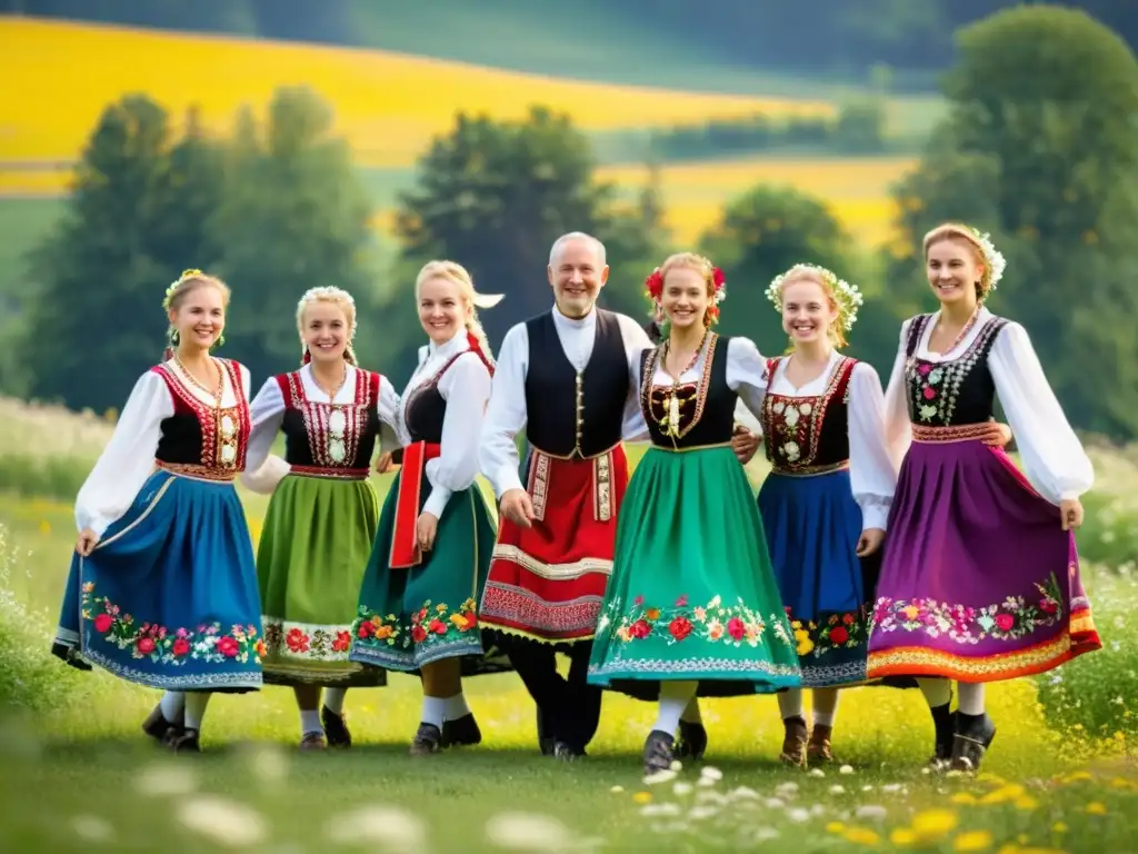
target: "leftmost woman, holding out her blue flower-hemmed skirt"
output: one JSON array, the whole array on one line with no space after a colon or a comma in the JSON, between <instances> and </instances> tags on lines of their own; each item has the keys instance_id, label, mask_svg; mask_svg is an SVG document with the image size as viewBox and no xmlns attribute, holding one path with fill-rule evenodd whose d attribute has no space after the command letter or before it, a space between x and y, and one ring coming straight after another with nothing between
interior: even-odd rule
<instances>
[{"instance_id":1,"label":"leftmost woman, holding out her blue flower-hemmed skirt","mask_svg":"<svg viewBox=\"0 0 1138 854\"><path fill-rule=\"evenodd\" d=\"M245 468L249 372L215 359L229 288L187 270L166 290L172 348L131 392L75 500L80 535L52 651L165 688L143 724L199 750L214 691L261 688L261 601L233 481Z\"/></svg>"}]
</instances>

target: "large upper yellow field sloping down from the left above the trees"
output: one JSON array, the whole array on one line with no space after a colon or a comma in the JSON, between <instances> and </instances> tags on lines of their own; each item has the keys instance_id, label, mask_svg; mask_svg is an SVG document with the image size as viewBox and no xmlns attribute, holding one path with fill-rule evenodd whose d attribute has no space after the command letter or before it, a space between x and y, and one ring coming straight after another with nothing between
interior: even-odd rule
<instances>
[{"instance_id":1,"label":"large upper yellow field sloping down from the left above the trees","mask_svg":"<svg viewBox=\"0 0 1138 854\"><path fill-rule=\"evenodd\" d=\"M709 116L831 115L824 101L748 98L587 83L377 50L352 50L126 27L0 20L0 161L79 155L104 106L147 92L173 114L191 105L228 130L273 91L307 85L336 110L361 163L406 166L456 110L521 116L534 104L570 113L585 130L668 125Z\"/></svg>"}]
</instances>

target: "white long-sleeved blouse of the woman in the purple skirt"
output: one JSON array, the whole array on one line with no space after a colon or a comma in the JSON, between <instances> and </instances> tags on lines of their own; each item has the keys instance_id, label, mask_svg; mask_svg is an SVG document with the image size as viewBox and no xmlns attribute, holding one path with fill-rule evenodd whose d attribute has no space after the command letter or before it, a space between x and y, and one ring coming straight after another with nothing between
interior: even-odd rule
<instances>
[{"instance_id":1,"label":"white long-sleeved blouse of the woman in the purple skirt","mask_svg":"<svg viewBox=\"0 0 1138 854\"><path fill-rule=\"evenodd\" d=\"M929 351L929 337L940 312L925 325L915 355L931 362L950 361L964 354L984 322L992 317L981 309L976 322L948 353ZM900 346L885 392L885 437L898 462L913 441L909 422L908 388L905 379L905 344L913 320L901 326ZM1004 404L1008 425L1023 462L1024 475L1039 493L1054 504L1082 495L1095 484L1095 469L1055 399L1026 330L1008 322L996 336L988 353L988 369L996 394Z\"/></svg>"}]
</instances>

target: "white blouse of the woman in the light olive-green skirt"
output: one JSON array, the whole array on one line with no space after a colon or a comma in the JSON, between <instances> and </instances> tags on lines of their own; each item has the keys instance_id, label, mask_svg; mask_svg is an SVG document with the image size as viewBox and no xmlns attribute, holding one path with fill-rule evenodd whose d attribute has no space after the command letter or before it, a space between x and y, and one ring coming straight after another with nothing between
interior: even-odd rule
<instances>
[{"instance_id":1,"label":"white blouse of the woman in the light olive-green skirt","mask_svg":"<svg viewBox=\"0 0 1138 854\"><path fill-rule=\"evenodd\" d=\"M300 383L304 386L305 396L314 403L336 403L347 405L355 401L356 377L358 372L352 370L347 373L347 380L336 393L336 399L329 399L328 392L320 387L312 376L312 363L305 364L299 370ZM395 387L387 380L387 377L379 378L379 401L376 410L380 420L380 444L385 450L398 447L402 443L398 438L397 410L399 397L395 393ZM277 441L277 433L284 421L284 395L277 383L275 377L270 377L261 386L257 396L249 404L249 418L253 421L253 429L249 433L249 450L246 452L245 471L241 475L241 483L253 492L270 494L277 484L289 473L291 466L277 454L270 453L273 443ZM370 462L370 461L369 461Z\"/></svg>"}]
</instances>

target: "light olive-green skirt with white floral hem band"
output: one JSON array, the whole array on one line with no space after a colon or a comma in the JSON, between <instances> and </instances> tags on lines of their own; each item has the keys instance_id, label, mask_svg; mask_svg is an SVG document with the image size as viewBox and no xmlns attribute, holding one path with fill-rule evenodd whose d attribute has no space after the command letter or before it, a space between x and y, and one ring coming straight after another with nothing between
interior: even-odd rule
<instances>
[{"instance_id":1,"label":"light olive-green skirt with white floral hem band","mask_svg":"<svg viewBox=\"0 0 1138 854\"><path fill-rule=\"evenodd\" d=\"M269 684L384 685L348 659L379 501L368 481L288 475L269 502L257 581Z\"/></svg>"}]
</instances>

